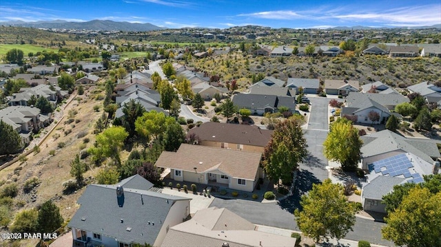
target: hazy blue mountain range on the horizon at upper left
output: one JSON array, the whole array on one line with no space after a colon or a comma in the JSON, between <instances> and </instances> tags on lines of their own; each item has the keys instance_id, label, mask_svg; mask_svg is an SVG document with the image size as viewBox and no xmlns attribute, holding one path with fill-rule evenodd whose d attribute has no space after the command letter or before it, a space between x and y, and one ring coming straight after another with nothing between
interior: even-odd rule
<instances>
[{"instance_id":1,"label":"hazy blue mountain range on the horizon at upper left","mask_svg":"<svg viewBox=\"0 0 441 247\"><path fill-rule=\"evenodd\" d=\"M165 28L158 27L150 23L130 23L127 21L108 21L93 20L84 22L74 21L0 21L0 25L12 25L25 28L57 28L57 29L76 29L76 30L94 30L94 31L152 31Z\"/></svg>"}]
</instances>

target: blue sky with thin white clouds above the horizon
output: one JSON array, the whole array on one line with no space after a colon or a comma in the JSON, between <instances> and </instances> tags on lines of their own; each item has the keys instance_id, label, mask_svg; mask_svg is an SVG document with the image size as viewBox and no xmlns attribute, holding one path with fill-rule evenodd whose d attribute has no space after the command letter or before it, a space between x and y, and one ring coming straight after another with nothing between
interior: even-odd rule
<instances>
[{"instance_id":1,"label":"blue sky with thin white clouds above the horizon","mask_svg":"<svg viewBox=\"0 0 441 247\"><path fill-rule=\"evenodd\" d=\"M58 0L0 1L0 21L152 23L166 28L400 27L441 24L440 0Z\"/></svg>"}]
</instances>

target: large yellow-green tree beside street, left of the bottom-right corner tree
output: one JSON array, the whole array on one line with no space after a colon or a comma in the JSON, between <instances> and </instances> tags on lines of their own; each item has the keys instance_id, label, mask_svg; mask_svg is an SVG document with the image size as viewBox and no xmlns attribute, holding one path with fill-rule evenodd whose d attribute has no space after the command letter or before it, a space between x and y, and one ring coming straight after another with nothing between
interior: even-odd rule
<instances>
[{"instance_id":1,"label":"large yellow-green tree beside street, left of the bottom-right corner tree","mask_svg":"<svg viewBox=\"0 0 441 247\"><path fill-rule=\"evenodd\" d=\"M296 209L297 225L302 233L315 241L322 237L341 239L356 222L356 205L348 202L341 184L330 179L313 184L307 195L302 195L302 211Z\"/></svg>"}]
</instances>

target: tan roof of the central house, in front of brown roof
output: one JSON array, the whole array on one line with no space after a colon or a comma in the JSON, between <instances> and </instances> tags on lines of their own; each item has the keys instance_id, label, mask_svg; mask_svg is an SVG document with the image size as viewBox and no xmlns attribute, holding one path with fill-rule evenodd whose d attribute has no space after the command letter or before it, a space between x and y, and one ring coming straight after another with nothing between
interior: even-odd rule
<instances>
[{"instance_id":1,"label":"tan roof of the central house, in front of brown roof","mask_svg":"<svg viewBox=\"0 0 441 247\"><path fill-rule=\"evenodd\" d=\"M218 169L233 177L254 180L262 153L181 144L176 153L163 151L156 167L203 173Z\"/></svg>"}]
</instances>

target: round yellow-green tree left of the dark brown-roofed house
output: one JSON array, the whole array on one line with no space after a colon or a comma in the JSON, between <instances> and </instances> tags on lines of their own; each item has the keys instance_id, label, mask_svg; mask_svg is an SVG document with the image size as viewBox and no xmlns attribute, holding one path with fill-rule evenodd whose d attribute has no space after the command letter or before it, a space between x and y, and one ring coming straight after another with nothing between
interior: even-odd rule
<instances>
[{"instance_id":1,"label":"round yellow-green tree left of the dark brown-roofed house","mask_svg":"<svg viewBox=\"0 0 441 247\"><path fill-rule=\"evenodd\" d=\"M169 125L176 122L176 119L170 116L165 116L163 112L152 110L145 112L135 121L135 130L139 136L150 140L150 138L158 138L163 135Z\"/></svg>"}]
</instances>

